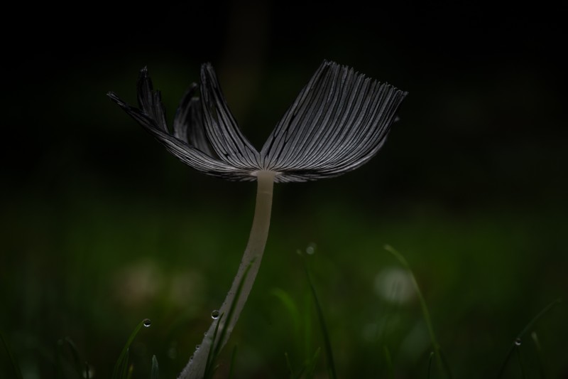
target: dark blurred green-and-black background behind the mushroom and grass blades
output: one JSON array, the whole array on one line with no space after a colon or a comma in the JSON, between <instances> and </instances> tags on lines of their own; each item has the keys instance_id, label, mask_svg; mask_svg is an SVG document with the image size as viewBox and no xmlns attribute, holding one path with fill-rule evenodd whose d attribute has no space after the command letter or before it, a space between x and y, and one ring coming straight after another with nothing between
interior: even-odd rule
<instances>
[{"instance_id":1,"label":"dark blurred green-and-black background behind the mushroom and grass blades","mask_svg":"<svg viewBox=\"0 0 568 379\"><path fill-rule=\"evenodd\" d=\"M24 378L55 378L70 337L109 378L175 378L231 284L254 183L181 164L106 96L145 65L167 113L200 63L257 147L321 61L410 92L383 150L339 178L275 186L266 254L233 346L237 378L288 378L323 346L307 256L342 378L425 378L431 351L393 245L413 267L455 378L495 377L515 336L568 292L564 21L467 1L229 1L6 10L2 26L0 331ZM305 254L304 254L305 255ZM393 287L393 285L395 287ZM398 296L392 299L393 288ZM280 291L280 292L278 292ZM300 325L275 293L302 314ZM567 306L506 378L568 378ZM531 329L532 331L533 329ZM70 354L64 352L64 358ZM540 357L540 358L539 358ZM318 372L325 377L324 356ZM72 377L72 376L67 376ZM11 378L0 349L0 378Z\"/></svg>"}]
</instances>

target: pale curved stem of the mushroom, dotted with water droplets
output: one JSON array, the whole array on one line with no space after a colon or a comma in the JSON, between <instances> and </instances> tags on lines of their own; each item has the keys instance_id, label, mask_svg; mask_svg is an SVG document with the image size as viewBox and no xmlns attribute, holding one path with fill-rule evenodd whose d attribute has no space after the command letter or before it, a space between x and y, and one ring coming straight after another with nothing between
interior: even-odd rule
<instances>
[{"instance_id":1,"label":"pale curved stem of the mushroom, dotted with water droplets","mask_svg":"<svg viewBox=\"0 0 568 379\"><path fill-rule=\"evenodd\" d=\"M203 378L207 364L207 356L209 350L212 348L212 337L217 328L217 322L219 322L217 339L219 339L221 331L226 328L225 333L223 333L223 340L216 341L216 343L220 343L220 350L229 339L231 331L233 331L236 321L239 319L239 314L241 314L246 299L249 297L249 293L253 287L254 279L256 279L258 268L261 266L262 255L264 247L266 246L266 239L268 238L268 229L271 223L274 177L275 172L273 171L257 171L258 189L256 192L253 225L251 235L249 236L249 243L246 245L243 259L241 260L241 265L239 265L239 270L236 272L236 276L233 279L231 289L229 289L221 308L219 308L220 319L213 320L200 347L195 350L193 358L187 363L179 379ZM244 277L245 274L246 277ZM239 297L236 297L237 292L239 292L239 285L242 286L241 292L239 293ZM225 324L227 313L231 308L231 304L234 302L234 313L229 320L229 324Z\"/></svg>"}]
</instances>

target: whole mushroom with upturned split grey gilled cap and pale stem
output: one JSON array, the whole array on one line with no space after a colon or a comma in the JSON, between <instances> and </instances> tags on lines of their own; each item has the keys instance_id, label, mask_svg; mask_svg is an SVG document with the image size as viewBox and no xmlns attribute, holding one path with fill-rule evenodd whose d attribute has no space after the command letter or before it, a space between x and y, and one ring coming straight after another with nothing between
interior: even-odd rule
<instances>
[{"instance_id":1,"label":"whole mushroom with upturned split grey gilled cap and pale stem","mask_svg":"<svg viewBox=\"0 0 568 379\"><path fill-rule=\"evenodd\" d=\"M201 99L196 97L198 88ZM168 129L160 92L153 90L146 68L141 70L137 92L138 108L114 92L108 95L182 162L204 174L258 182L249 242L217 311L221 316L214 317L200 348L180 374L184 379L202 378L209 349L213 343L224 346L253 287L268 237L273 184L339 176L365 164L383 146L407 92L324 60L261 151L241 133L209 63L202 65L200 87L193 83L182 98L173 131ZM231 319L223 319L231 307ZM223 329L224 333L214 333ZM216 341L212 341L214 334Z\"/></svg>"}]
</instances>

